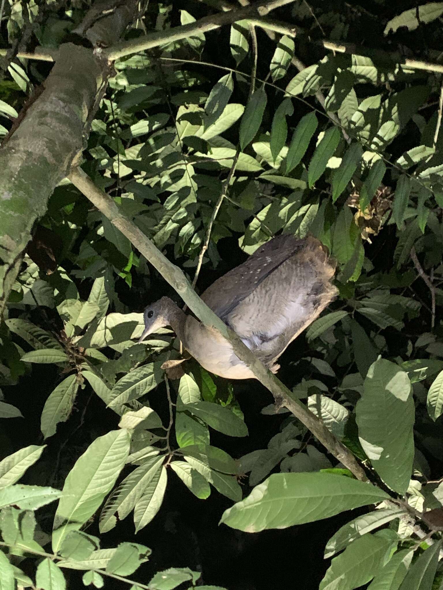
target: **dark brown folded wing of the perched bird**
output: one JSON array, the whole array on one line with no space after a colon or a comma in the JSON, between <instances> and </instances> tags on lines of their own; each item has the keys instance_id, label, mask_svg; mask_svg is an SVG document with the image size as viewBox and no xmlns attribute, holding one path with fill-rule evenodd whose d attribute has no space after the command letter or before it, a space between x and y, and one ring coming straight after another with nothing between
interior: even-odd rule
<instances>
[{"instance_id":1,"label":"dark brown folded wing of the perched bird","mask_svg":"<svg viewBox=\"0 0 443 590\"><path fill-rule=\"evenodd\" d=\"M201 299L217 316L226 319L265 278L299 249L305 247L309 239L297 240L292 235L278 235L272 238L260 246L243 264L211 284Z\"/></svg>"}]
</instances>

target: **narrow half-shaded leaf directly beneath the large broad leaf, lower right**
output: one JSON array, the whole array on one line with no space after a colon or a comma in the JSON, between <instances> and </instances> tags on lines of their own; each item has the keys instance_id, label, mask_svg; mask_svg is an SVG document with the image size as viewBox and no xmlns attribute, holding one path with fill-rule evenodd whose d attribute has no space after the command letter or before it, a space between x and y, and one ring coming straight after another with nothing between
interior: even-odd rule
<instances>
[{"instance_id":1,"label":"narrow half-shaded leaf directly beneath the large broad leaf, lower right","mask_svg":"<svg viewBox=\"0 0 443 590\"><path fill-rule=\"evenodd\" d=\"M328 540L324 557L332 557L342 549L346 548L354 540L359 539L366 533L385 525L387 522L405 514L401 508L382 508L357 516L354 520L346 523Z\"/></svg>"}]
</instances>

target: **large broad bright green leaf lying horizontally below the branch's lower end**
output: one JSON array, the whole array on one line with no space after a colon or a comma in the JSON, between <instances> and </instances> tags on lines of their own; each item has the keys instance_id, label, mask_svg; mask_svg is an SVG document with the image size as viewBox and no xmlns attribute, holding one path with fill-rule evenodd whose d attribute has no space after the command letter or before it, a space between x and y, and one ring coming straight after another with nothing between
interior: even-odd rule
<instances>
[{"instance_id":1,"label":"large broad bright green leaf lying horizontally below the branch's lower end","mask_svg":"<svg viewBox=\"0 0 443 590\"><path fill-rule=\"evenodd\" d=\"M283 529L388 497L372 485L331 473L275 473L225 510L221 522L250 533Z\"/></svg>"}]
</instances>

